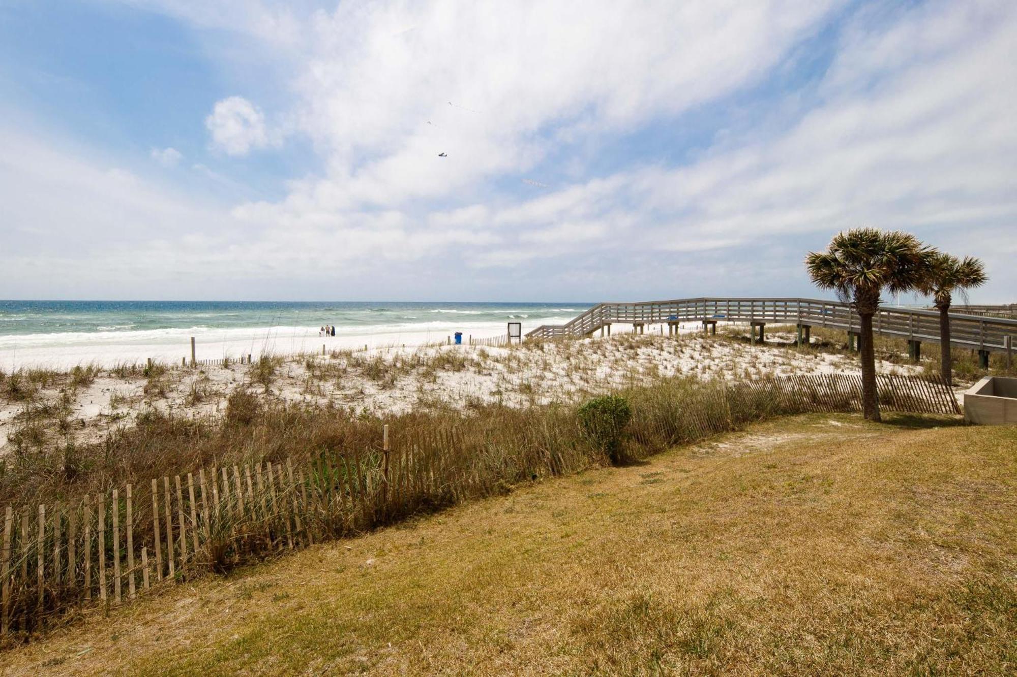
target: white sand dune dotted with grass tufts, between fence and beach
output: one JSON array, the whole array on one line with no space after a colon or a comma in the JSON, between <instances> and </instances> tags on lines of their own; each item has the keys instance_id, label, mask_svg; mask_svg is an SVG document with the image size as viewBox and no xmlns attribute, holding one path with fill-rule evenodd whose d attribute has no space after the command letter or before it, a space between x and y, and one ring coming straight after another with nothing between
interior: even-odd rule
<instances>
[{"instance_id":1,"label":"white sand dune dotted with grass tufts, between fence and beach","mask_svg":"<svg viewBox=\"0 0 1017 677\"><path fill-rule=\"evenodd\" d=\"M793 341L790 332L775 330L769 344L753 346L730 335L704 335L692 324L683 327L677 340L654 331L636 335L631 329L623 332L621 326L615 329L622 331L608 338L527 342L513 347L423 345L438 336L421 334L417 336L421 346L408 343L403 348L393 336L325 341L315 332L300 342L274 344L288 347L292 353L273 358L275 366L268 378L262 376L257 364L174 368L146 377L140 367L127 368L122 357L115 357L122 354L110 352L106 360L109 366L99 369L89 383L71 387L68 376L53 376L40 387L32 407L55 407L65 397L69 423L59 436L61 440L54 441L94 441L110 430L130 425L146 411L221 415L230 393L237 389L286 402L384 415L428 407L466 409L474 403L526 406L574 402L584 394L666 376L736 380L791 373L858 373L854 355L794 350L789 348ZM747 328L744 331L747 335ZM364 344L370 346L372 340L375 347L364 350ZM324 356L320 354L322 343ZM111 344L113 347L117 345ZM142 346L137 355L149 349ZM102 354L84 353L84 347L80 350L78 363L101 359ZM306 351L302 356L298 355L301 350ZM63 357L74 364L72 355ZM141 360L138 363L143 364ZM880 362L878 369L905 374L918 368ZM25 407L11 401L0 404L0 454L12 448L9 437L25 418Z\"/></svg>"}]
</instances>

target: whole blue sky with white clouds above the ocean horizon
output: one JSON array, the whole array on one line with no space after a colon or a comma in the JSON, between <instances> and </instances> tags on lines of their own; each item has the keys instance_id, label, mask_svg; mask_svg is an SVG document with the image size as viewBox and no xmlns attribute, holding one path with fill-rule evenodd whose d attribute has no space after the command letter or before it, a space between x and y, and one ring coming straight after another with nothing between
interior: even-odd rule
<instances>
[{"instance_id":1,"label":"whole blue sky with white clouds above the ocean horizon","mask_svg":"<svg viewBox=\"0 0 1017 677\"><path fill-rule=\"evenodd\" d=\"M0 0L0 298L1017 302L1012 0Z\"/></svg>"}]
</instances>

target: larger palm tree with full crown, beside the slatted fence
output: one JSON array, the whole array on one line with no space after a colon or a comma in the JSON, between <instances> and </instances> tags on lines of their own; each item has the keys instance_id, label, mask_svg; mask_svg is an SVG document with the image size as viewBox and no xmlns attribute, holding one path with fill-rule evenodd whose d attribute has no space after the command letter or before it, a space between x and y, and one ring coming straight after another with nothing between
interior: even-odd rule
<instances>
[{"instance_id":1,"label":"larger palm tree with full crown, beside the slatted fence","mask_svg":"<svg viewBox=\"0 0 1017 677\"><path fill-rule=\"evenodd\" d=\"M870 421L882 420L873 347L873 315L880 295L884 290L898 294L918 289L934 251L909 233L855 228L834 236L826 251L805 256L813 284L834 290L861 320L861 413Z\"/></svg>"}]
</instances>

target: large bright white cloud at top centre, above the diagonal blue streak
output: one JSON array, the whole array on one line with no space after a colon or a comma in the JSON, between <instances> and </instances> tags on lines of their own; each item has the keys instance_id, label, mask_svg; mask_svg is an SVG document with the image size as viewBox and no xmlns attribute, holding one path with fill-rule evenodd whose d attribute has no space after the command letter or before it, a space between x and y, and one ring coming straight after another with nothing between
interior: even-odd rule
<instances>
[{"instance_id":1,"label":"large bright white cloud at top centre, above the diagonal blue streak","mask_svg":"<svg viewBox=\"0 0 1017 677\"><path fill-rule=\"evenodd\" d=\"M330 172L297 198L392 205L524 172L756 81L837 4L341 3L309 19L296 118Z\"/></svg>"}]
</instances>

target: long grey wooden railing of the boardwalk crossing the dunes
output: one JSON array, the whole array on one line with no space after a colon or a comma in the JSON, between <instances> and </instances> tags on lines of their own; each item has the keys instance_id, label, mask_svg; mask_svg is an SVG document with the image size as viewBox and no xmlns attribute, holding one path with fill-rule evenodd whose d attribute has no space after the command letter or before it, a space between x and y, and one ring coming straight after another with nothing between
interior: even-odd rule
<instances>
[{"instance_id":1,"label":"long grey wooden railing of the boardwalk crossing the dunes","mask_svg":"<svg viewBox=\"0 0 1017 677\"><path fill-rule=\"evenodd\" d=\"M958 348L1006 352L1017 340L1017 319L950 313L950 344ZM846 303L820 299L676 299L640 303L600 303L565 324L544 324L528 338L590 335L614 322L773 322L857 331L858 314ZM908 341L940 341L940 314L884 306L873 318L873 330Z\"/></svg>"}]
</instances>

